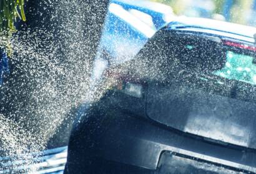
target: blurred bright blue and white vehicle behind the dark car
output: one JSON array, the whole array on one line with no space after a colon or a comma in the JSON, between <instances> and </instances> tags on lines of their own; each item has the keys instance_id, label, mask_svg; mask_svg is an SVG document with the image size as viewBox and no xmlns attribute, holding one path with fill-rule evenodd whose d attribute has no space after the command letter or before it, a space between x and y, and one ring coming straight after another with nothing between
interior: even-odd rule
<instances>
[{"instance_id":1,"label":"blurred bright blue and white vehicle behind the dark car","mask_svg":"<svg viewBox=\"0 0 256 174\"><path fill-rule=\"evenodd\" d=\"M157 2L111 1L98 57L114 64L131 59L172 17L172 8Z\"/></svg>"}]
</instances>

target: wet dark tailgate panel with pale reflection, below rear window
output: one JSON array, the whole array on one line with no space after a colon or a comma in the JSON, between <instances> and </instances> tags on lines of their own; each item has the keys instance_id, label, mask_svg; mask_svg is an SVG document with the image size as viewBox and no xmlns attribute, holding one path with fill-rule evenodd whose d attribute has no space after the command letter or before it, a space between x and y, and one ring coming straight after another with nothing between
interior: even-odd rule
<instances>
[{"instance_id":1,"label":"wet dark tailgate panel with pale reflection, below rear window","mask_svg":"<svg viewBox=\"0 0 256 174\"><path fill-rule=\"evenodd\" d=\"M254 102L186 85L150 85L147 115L182 132L256 149Z\"/></svg>"}]
</instances>

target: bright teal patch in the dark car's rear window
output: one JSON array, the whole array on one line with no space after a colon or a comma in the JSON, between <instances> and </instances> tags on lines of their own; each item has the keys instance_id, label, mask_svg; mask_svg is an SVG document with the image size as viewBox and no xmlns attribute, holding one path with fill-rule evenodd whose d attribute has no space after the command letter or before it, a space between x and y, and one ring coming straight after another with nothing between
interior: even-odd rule
<instances>
[{"instance_id":1,"label":"bright teal patch in the dark car's rear window","mask_svg":"<svg viewBox=\"0 0 256 174\"><path fill-rule=\"evenodd\" d=\"M253 63L255 58L233 51L227 51L226 55L225 67L215 71L214 74L256 85L256 65Z\"/></svg>"}]
</instances>

